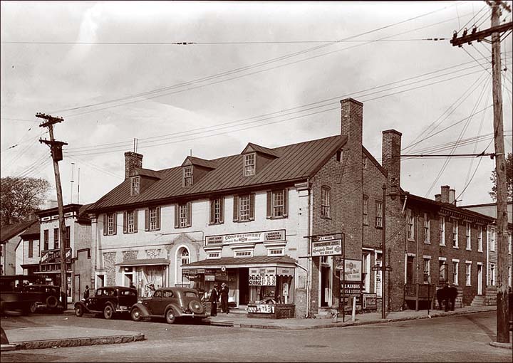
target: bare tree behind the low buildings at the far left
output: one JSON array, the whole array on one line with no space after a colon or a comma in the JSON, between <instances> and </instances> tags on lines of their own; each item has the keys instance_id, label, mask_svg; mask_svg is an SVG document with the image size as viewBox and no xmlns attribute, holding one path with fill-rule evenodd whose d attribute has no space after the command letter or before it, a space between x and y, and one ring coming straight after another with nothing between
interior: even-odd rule
<instances>
[{"instance_id":1,"label":"bare tree behind the low buildings at the far left","mask_svg":"<svg viewBox=\"0 0 513 363\"><path fill-rule=\"evenodd\" d=\"M50 183L39 178L1 178L1 226L28 219L46 199Z\"/></svg>"}]
</instances>

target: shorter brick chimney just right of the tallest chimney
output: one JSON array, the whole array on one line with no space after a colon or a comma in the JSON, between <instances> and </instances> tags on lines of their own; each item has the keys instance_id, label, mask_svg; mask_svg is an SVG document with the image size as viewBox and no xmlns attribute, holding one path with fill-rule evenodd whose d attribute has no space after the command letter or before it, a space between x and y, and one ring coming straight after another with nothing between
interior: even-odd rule
<instances>
[{"instance_id":1,"label":"shorter brick chimney just right of the tallest chimney","mask_svg":"<svg viewBox=\"0 0 513 363\"><path fill-rule=\"evenodd\" d=\"M400 188L400 146L403 134L397 130L383 131L382 164L388 172L388 194L398 196Z\"/></svg>"}]
</instances>

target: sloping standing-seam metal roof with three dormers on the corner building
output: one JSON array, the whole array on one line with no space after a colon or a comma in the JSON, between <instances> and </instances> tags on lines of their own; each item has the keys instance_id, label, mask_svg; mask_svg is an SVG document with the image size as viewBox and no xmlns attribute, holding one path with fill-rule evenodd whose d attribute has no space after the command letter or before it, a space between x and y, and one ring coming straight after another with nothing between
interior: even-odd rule
<instances>
[{"instance_id":1,"label":"sloping standing-seam metal roof with three dormers on the corner building","mask_svg":"<svg viewBox=\"0 0 513 363\"><path fill-rule=\"evenodd\" d=\"M277 157L267 162L252 177L243 175L243 155L210 160L216 168L192 186L182 186L182 167L162 169L155 181L138 196L130 196L130 180L125 180L101 197L89 211L113 210L128 205L184 199L202 194L222 193L280 182L293 182L313 177L335 152L346 143L347 137L336 135L272 149Z\"/></svg>"}]
</instances>

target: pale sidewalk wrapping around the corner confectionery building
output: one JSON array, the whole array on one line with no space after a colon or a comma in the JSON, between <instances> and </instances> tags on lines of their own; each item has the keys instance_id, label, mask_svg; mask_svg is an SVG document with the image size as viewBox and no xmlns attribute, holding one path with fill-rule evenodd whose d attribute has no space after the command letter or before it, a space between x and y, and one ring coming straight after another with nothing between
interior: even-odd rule
<instances>
[{"instance_id":1,"label":"pale sidewalk wrapping around the corner confectionery building","mask_svg":"<svg viewBox=\"0 0 513 363\"><path fill-rule=\"evenodd\" d=\"M381 319L381 312L366 312L357 314L356 321L351 320L351 315L346 315L346 321L342 322L342 316L338 316L338 322L329 319L266 319L257 317L247 317L245 314L229 314L222 312L216 317L209 317L209 325L220 325L229 327L252 327L260 329L283 329L283 330L305 330L305 329L323 329L328 327L348 327L354 325L378 324L383 322L397 322L403 320L430 319L433 317L466 315L476 312L487 312L497 310L496 306L482 307L462 307L455 311L430 310L430 316L427 316L427 310L404 310L399 312L389 312L386 319Z\"/></svg>"}]
</instances>

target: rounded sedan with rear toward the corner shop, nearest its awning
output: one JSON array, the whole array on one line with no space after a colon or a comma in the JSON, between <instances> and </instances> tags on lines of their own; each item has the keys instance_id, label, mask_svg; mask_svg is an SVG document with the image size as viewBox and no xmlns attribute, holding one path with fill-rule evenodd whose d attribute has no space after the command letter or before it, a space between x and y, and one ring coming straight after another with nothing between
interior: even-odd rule
<instances>
[{"instance_id":1,"label":"rounded sedan with rear toward the corner shop, nearest its awning","mask_svg":"<svg viewBox=\"0 0 513 363\"><path fill-rule=\"evenodd\" d=\"M151 298L133 305L130 315L136 322L144 317L165 317L169 324L179 317L207 317L197 290L191 288L159 288Z\"/></svg>"}]
</instances>

